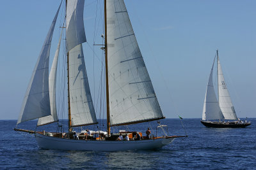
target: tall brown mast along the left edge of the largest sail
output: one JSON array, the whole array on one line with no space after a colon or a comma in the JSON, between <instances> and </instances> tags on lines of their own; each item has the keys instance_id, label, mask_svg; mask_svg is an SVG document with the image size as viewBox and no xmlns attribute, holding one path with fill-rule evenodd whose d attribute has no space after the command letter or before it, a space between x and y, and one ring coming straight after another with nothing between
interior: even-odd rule
<instances>
[{"instance_id":1,"label":"tall brown mast along the left edge of the largest sail","mask_svg":"<svg viewBox=\"0 0 256 170\"><path fill-rule=\"evenodd\" d=\"M109 90L108 90L108 41L107 41L107 0L104 0L104 22L105 22L105 67L106 67L106 98L107 98L107 131L110 135L109 122Z\"/></svg>"}]
</instances>

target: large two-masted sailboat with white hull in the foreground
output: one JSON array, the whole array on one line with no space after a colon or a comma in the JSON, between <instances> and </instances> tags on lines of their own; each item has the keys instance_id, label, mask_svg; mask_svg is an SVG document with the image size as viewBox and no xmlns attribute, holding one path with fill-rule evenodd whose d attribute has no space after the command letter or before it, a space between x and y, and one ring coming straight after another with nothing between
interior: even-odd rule
<instances>
[{"instance_id":1,"label":"large two-masted sailboat with white hull in the foreground","mask_svg":"<svg viewBox=\"0 0 256 170\"><path fill-rule=\"evenodd\" d=\"M107 129L73 131L74 127L97 124L90 92L82 43L84 0L66 1L66 53L68 81L68 132L33 132L41 148L57 150L146 150L160 148L175 138L186 136L142 136L137 131L111 133L111 127L163 119L152 82L124 4L124 0L104 0L104 48L106 69ZM60 5L61 6L61 5ZM38 126L58 122L56 71L60 41L49 74L51 39L60 7L45 39L29 81L17 125L38 118ZM162 125L159 125L163 129ZM95 136L95 135L98 136ZM127 137L123 141L122 137Z\"/></svg>"}]
</instances>

